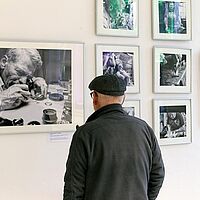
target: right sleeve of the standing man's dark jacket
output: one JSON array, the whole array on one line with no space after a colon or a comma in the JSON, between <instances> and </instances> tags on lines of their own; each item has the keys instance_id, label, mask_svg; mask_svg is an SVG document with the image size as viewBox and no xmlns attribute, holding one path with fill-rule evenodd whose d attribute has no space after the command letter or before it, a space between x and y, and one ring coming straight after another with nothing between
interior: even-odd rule
<instances>
[{"instance_id":1,"label":"right sleeve of the standing man's dark jacket","mask_svg":"<svg viewBox=\"0 0 200 200\"><path fill-rule=\"evenodd\" d=\"M152 135L152 166L148 183L148 198L155 200L164 181L165 168L162 160L160 147L153 130L149 127Z\"/></svg>"}]
</instances>

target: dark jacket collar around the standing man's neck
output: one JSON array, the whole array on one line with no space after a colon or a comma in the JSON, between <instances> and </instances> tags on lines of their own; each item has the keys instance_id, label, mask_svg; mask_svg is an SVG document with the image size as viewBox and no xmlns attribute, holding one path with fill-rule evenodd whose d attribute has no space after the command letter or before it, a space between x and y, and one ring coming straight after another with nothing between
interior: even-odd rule
<instances>
[{"instance_id":1,"label":"dark jacket collar around the standing man's neck","mask_svg":"<svg viewBox=\"0 0 200 200\"><path fill-rule=\"evenodd\" d=\"M109 105L103 106L102 108L95 111L92 115L90 115L86 123L99 118L101 115L104 115L106 113L113 112L113 111L124 113L121 104L109 104Z\"/></svg>"}]
</instances>

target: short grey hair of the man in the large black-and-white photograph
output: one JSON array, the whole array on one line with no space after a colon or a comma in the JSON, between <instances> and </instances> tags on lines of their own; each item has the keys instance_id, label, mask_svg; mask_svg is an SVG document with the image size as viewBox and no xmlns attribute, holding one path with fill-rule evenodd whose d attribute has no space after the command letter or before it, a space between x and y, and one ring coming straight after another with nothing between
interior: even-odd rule
<instances>
[{"instance_id":1,"label":"short grey hair of the man in the large black-and-white photograph","mask_svg":"<svg viewBox=\"0 0 200 200\"><path fill-rule=\"evenodd\" d=\"M23 56L23 55L30 56L35 69L41 68L42 59L41 59L41 56L40 56L37 49L13 48L13 49L8 49L8 51L6 52L6 56L8 57L8 61L11 61L11 62L17 62L19 54L21 56Z\"/></svg>"}]
</instances>

